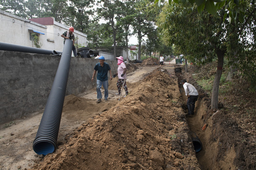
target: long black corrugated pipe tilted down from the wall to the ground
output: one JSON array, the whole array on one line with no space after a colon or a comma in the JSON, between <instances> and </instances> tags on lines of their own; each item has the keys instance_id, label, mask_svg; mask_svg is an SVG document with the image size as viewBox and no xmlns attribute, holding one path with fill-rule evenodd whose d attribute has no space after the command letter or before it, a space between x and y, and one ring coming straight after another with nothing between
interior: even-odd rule
<instances>
[{"instance_id":1,"label":"long black corrugated pipe tilted down from the wall to the ground","mask_svg":"<svg viewBox=\"0 0 256 170\"><path fill-rule=\"evenodd\" d=\"M55 75L46 108L33 142L33 150L37 154L53 153L57 145L60 120L66 92L68 73L71 61L72 40L67 39L60 63Z\"/></svg>"}]
</instances>

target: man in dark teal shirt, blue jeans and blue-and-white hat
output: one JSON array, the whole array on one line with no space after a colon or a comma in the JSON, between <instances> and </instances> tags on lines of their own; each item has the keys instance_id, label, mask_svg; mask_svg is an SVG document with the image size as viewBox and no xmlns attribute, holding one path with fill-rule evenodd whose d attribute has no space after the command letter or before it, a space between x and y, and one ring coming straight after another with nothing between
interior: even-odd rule
<instances>
[{"instance_id":1,"label":"man in dark teal shirt, blue jeans and blue-and-white hat","mask_svg":"<svg viewBox=\"0 0 256 170\"><path fill-rule=\"evenodd\" d=\"M112 80L112 73L110 69L110 65L105 61L105 57L101 56L99 57L100 62L98 62L95 67L94 67L94 72L91 78L91 82L93 82L94 76L96 75L96 72L98 71L97 74L97 103L101 102L102 99L102 94L101 94L101 86L103 85L104 87L104 98L105 101L108 101L109 97L109 81L108 81L108 71L110 72L110 80Z\"/></svg>"}]
</instances>

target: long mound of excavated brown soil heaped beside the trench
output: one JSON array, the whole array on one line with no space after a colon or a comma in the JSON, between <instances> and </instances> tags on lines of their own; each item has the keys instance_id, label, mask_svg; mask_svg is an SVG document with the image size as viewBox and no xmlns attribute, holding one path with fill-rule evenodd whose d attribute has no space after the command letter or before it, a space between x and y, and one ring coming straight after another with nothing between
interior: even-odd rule
<instances>
[{"instance_id":1,"label":"long mound of excavated brown soil heaped beside the trench","mask_svg":"<svg viewBox=\"0 0 256 170\"><path fill-rule=\"evenodd\" d=\"M70 97L64 110L82 102ZM33 169L199 170L181 106L177 78L156 70Z\"/></svg>"}]
</instances>

